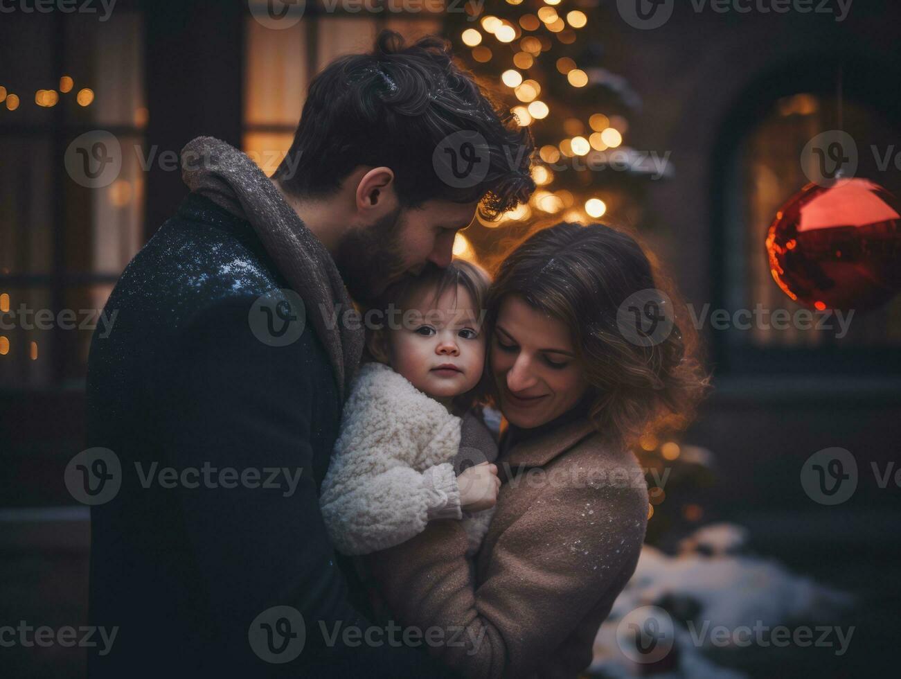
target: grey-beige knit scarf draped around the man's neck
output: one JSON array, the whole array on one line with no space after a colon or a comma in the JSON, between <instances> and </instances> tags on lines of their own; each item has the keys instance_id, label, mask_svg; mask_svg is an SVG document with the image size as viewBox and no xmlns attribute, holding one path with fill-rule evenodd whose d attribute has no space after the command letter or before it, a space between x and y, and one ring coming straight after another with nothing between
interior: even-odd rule
<instances>
[{"instance_id":1,"label":"grey-beige knit scarf draped around the man's neck","mask_svg":"<svg viewBox=\"0 0 901 679\"><path fill-rule=\"evenodd\" d=\"M181 166L191 191L250 222L278 271L304 299L343 401L359 367L363 331L359 324L333 322L353 303L332 255L256 163L231 144L197 137L182 149Z\"/></svg>"}]
</instances>

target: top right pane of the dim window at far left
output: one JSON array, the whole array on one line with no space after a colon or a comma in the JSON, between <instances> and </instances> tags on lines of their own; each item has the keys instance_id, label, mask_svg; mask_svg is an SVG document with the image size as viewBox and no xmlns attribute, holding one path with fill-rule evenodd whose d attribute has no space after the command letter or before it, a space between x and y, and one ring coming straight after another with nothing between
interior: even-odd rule
<instances>
[{"instance_id":1,"label":"top right pane of the dim window at far left","mask_svg":"<svg viewBox=\"0 0 901 679\"><path fill-rule=\"evenodd\" d=\"M71 92L60 95L67 113L85 124L143 127L148 113L141 15L113 12L100 22L95 14L68 14L65 25L67 72L59 75L74 81ZM83 90L90 90L93 97L79 96Z\"/></svg>"}]
</instances>

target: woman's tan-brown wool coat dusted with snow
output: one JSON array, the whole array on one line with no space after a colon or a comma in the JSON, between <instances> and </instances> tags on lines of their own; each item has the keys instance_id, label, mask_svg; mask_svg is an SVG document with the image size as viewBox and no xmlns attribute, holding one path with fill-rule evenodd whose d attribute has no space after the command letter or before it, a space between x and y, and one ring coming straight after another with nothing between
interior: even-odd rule
<instances>
[{"instance_id":1,"label":"woman's tan-brown wool coat dusted with snow","mask_svg":"<svg viewBox=\"0 0 901 679\"><path fill-rule=\"evenodd\" d=\"M647 486L631 451L603 445L585 418L524 431L497 458L474 568L452 519L365 557L394 619L432 634L430 652L466 677L576 677L644 539Z\"/></svg>"}]
</instances>

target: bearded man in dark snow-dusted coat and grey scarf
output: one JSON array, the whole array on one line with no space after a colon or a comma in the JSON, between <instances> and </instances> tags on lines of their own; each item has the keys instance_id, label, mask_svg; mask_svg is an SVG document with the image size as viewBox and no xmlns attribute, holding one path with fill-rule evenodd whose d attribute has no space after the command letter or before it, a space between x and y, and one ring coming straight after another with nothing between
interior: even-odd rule
<instances>
[{"instance_id":1,"label":"bearded man in dark snow-dusted coat and grey scarf","mask_svg":"<svg viewBox=\"0 0 901 679\"><path fill-rule=\"evenodd\" d=\"M91 676L446 673L426 630L370 627L323 527L362 348L348 292L446 266L477 207L529 197L531 153L444 41L391 32L314 78L271 180L224 142L187 145L192 192L89 357L90 616L117 629Z\"/></svg>"}]
</instances>

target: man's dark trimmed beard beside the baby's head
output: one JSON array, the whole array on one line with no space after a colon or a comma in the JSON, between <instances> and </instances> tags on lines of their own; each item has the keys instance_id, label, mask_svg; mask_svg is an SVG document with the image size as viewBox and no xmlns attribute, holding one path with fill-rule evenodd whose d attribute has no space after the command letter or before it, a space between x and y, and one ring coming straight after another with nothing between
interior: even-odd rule
<instances>
[{"instance_id":1,"label":"man's dark trimmed beard beside the baby's head","mask_svg":"<svg viewBox=\"0 0 901 679\"><path fill-rule=\"evenodd\" d=\"M398 206L373 225L351 229L338 243L333 259L350 297L359 304L371 304L405 272L401 212Z\"/></svg>"}]
</instances>

